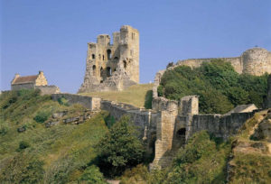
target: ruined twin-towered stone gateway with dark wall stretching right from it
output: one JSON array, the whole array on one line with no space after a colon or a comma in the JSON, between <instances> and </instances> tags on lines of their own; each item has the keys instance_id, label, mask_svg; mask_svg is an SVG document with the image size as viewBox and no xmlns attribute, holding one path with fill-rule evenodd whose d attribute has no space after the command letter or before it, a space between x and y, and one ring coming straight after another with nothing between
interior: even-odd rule
<instances>
[{"instance_id":1,"label":"ruined twin-towered stone gateway with dark wall stretching right from it","mask_svg":"<svg viewBox=\"0 0 271 184\"><path fill-rule=\"evenodd\" d=\"M255 113L198 115L197 96L182 97L179 102L154 97L153 108L159 112L159 118L156 119L155 156L151 169L168 166L193 133L207 130L226 140L230 135L238 133L238 129Z\"/></svg>"}]
</instances>

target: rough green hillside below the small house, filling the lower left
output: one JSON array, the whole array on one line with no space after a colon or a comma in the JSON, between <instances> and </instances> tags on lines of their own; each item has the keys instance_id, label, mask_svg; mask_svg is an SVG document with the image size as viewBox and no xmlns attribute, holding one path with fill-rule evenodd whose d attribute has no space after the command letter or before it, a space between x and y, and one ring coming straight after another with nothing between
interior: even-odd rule
<instances>
[{"instance_id":1,"label":"rough green hillside below the small house, filling the lower left","mask_svg":"<svg viewBox=\"0 0 271 184\"><path fill-rule=\"evenodd\" d=\"M63 106L37 91L6 92L0 96L0 180L5 183L71 183L88 173L97 175L91 163L93 145L107 133L105 113L84 124L60 124L45 128L37 115L81 111L82 106ZM18 128L26 131L19 133Z\"/></svg>"}]
</instances>

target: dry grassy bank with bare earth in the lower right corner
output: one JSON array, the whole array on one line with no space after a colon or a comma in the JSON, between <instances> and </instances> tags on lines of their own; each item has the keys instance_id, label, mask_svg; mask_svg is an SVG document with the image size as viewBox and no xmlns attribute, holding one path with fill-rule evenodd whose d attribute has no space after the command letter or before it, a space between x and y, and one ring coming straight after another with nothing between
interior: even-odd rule
<instances>
[{"instance_id":1,"label":"dry grassy bank with bare earth in the lower right corner","mask_svg":"<svg viewBox=\"0 0 271 184\"><path fill-rule=\"evenodd\" d=\"M269 127L269 131L263 131ZM271 114L262 111L249 119L232 143L230 183L271 183ZM259 133L257 133L259 132Z\"/></svg>"}]
</instances>

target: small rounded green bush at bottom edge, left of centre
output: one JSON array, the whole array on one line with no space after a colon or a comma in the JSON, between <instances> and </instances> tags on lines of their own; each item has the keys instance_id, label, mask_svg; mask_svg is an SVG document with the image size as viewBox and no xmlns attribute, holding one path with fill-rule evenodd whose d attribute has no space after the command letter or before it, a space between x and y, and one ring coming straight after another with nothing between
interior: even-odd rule
<instances>
[{"instance_id":1,"label":"small rounded green bush at bottom edge, left of centre","mask_svg":"<svg viewBox=\"0 0 271 184\"><path fill-rule=\"evenodd\" d=\"M103 174L95 165L89 166L79 178L79 181L86 181L87 183L106 184Z\"/></svg>"}]
</instances>

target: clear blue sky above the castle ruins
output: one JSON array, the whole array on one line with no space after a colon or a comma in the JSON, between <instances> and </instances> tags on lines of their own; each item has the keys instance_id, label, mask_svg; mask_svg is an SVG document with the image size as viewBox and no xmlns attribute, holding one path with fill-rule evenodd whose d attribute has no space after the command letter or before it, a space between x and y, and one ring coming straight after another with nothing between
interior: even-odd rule
<instances>
[{"instance_id":1,"label":"clear blue sky above the castle ruins","mask_svg":"<svg viewBox=\"0 0 271 184\"><path fill-rule=\"evenodd\" d=\"M140 32L140 82L168 62L271 51L269 0L0 0L1 90L15 73L43 70L50 84L75 93L87 42L129 24Z\"/></svg>"}]
</instances>

